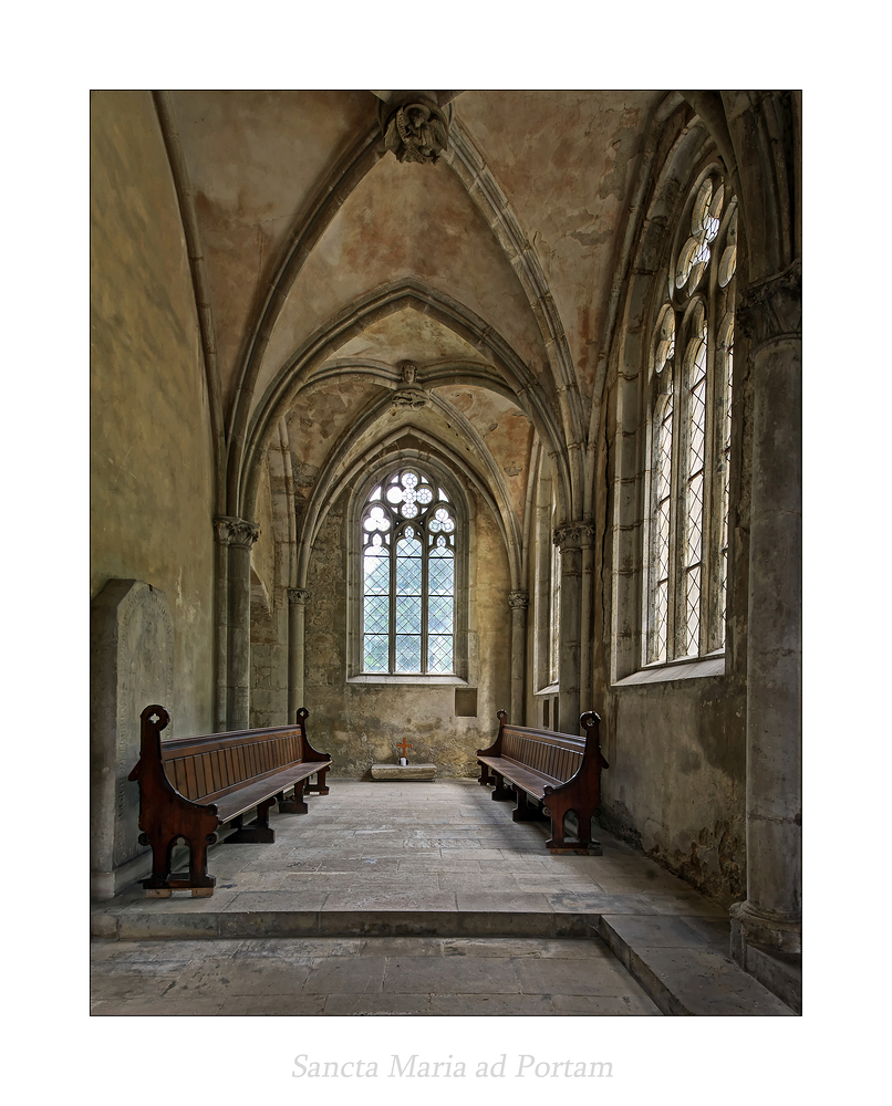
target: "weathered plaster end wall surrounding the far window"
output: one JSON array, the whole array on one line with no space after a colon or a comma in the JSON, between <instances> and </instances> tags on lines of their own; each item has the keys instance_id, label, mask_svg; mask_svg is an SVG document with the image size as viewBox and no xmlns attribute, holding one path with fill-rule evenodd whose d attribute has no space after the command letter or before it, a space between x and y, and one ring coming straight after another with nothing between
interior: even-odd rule
<instances>
[{"instance_id":1,"label":"weathered plaster end wall surrounding the far window","mask_svg":"<svg viewBox=\"0 0 892 1106\"><path fill-rule=\"evenodd\" d=\"M365 778L372 764L395 763L409 741L409 762L432 762L439 776L476 776L477 749L491 743L496 711L510 701L508 563L488 510L477 503L469 559L469 680L477 717L455 716L455 687L348 684L346 497L323 523L310 561L307 604L308 731L330 752L332 775Z\"/></svg>"}]
</instances>

